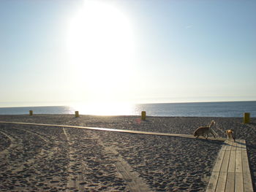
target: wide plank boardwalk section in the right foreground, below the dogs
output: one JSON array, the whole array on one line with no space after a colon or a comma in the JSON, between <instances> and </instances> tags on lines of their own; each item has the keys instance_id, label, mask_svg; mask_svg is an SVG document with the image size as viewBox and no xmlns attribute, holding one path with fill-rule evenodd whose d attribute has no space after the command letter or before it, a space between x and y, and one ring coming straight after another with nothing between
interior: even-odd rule
<instances>
[{"instance_id":1,"label":"wide plank boardwalk section in the right foreground, below the dogs","mask_svg":"<svg viewBox=\"0 0 256 192\"><path fill-rule=\"evenodd\" d=\"M253 192L244 139L236 139L236 142L230 140L224 142L206 191Z\"/></svg>"}]
</instances>

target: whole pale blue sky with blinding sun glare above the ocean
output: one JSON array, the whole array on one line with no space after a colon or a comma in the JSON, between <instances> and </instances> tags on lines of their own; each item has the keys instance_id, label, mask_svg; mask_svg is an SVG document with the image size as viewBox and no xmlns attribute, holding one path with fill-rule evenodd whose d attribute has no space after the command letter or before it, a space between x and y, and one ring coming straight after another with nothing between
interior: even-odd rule
<instances>
[{"instance_id":1,"label":"whole pale blue sky with blinding sun glare above the ocean","mask_svg":"<svg viewBox=\"0 0 256 192\"><path fill-rule=\"evenodd\" d=\"M256 1L1 0L0 107L256 101Z\"/></svg>"}]
</instances>

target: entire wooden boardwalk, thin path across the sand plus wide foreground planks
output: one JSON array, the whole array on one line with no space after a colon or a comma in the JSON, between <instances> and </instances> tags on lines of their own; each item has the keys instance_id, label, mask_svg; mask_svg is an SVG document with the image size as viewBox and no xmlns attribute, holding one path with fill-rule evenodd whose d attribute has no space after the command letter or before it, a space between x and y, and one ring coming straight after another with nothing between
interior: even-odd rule
<instances>
[{"instance_id":1,"label":"entire wooden boardwalk, thin path across the sand plus wide foreground planks","mask_svg":"<svg viewBox=\"0 0 256 192\"><path fill-rule=\"evenodd\" d=\"M67 126L67 125L53 125L42 123L20 123L20 122L7 122L0 121L0 123L14 123L31 126L51 126L51 127L63 127L63 128L84 128L89 130L99 131L115 131L129 134L148 134L158 136L169 137L184 137L189 139L195 139L194 136L189 134L169 134L159 132L148 131L132 131L124 129L113 128L96 128L96 127L84 127L84 126ZM198 139L205 139L203 137ZM246 151L246 142L244 139L236 139L236 142L226 140L225 138L208 137L211 140L225 141L217 161L214 165L211 179L206 189L207 192L214 191L228 191L228 192L253 192L252 178L249 169L249 162Z\"/></svg>"}]
</instances>

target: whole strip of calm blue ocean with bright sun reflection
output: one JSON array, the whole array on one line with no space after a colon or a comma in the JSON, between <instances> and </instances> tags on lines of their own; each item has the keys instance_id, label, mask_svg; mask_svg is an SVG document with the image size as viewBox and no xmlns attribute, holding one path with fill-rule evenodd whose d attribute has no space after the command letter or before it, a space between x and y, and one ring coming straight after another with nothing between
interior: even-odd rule
<instances>
[{"instance_id":1,"label":"whole strip of calm blue ocean with bright sun reflection","mask_svg":"<svg viewBox=\"0 0 256 192\"><path fill-rule=\"evenodd\" d=\"M256 101L0 107L0 115L24 115L29 110L34 114L74 114L78 110L80 115L140 115L146 111L146 115L165 117L243 117L249 112L256 117Z\"/></svg>"}]
</instances>

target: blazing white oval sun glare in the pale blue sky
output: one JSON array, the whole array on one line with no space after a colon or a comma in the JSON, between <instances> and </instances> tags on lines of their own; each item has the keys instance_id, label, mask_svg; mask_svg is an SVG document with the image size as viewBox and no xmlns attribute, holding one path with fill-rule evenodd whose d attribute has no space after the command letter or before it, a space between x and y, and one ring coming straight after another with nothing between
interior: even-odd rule
<instances>
[{"instance_id":1,"label":"blazing white oval sun glare in the pale blue sky","mask_svg":"<svg viewBox=\"0 0 256 192\"><path fill-rule=\"evenodd\" d=\"M112 100L129 86L135 37L124 12L110 1L84 1L67 31L70 72L86 99Z\"/></svg>"}]
</instances>

